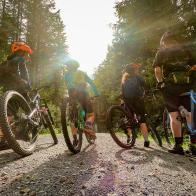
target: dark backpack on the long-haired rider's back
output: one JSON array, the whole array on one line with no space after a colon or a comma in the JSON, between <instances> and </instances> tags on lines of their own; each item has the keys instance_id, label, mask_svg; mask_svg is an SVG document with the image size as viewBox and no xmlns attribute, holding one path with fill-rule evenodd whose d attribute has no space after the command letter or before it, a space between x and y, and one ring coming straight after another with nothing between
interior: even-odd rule
<instances>
[{"instance_id":1,"label":"dark backpack on the long-haired rider's back","mask_svg":"<svg viewBox=\"0 0 196 196\"><path fill-rule=\"evenodd\" d=\"M137 77L130 77L122 84L122 94L126 99L132 99L142 97L144 89L141 85L140 80Z\"/></svg>"}]
</instances>

